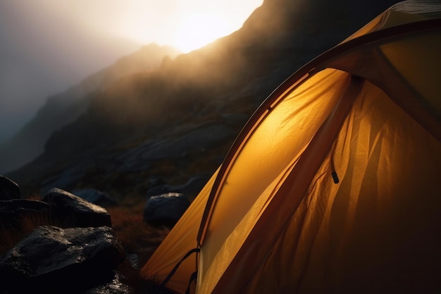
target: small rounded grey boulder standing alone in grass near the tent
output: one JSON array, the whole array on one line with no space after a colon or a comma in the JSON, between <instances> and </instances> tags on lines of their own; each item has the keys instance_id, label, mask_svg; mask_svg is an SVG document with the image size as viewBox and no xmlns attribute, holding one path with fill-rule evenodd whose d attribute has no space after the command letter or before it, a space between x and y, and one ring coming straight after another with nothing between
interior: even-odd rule
<instances>
[{"instance_id":1,"label":"small rounded grey boulder standing alone in grass near the tent","mask_svg":"<svg viewBox=\"0 0 441 294\"><path fill-rule=\"evenodd\" d=\"M152 196L144 208L144 221L173 226L189 206L190 201L180 193Z\"/></svg>"}]
</instances>

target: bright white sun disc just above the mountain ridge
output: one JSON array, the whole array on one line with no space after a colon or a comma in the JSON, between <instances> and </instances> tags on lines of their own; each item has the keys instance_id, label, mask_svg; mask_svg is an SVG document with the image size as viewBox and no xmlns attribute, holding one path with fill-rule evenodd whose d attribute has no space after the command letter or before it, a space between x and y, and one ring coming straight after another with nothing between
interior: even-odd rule
<instances>
[{"instance_id":1,"label":"bright white sun disc just above the mountain ridge","mask_svg":"<svg viewBox=\"0 0 441 294\"><path fill-rule=\"evenodd\" d=\"M175 46L187 53L203 47L215 39L229 35L231 25L216 14L193 14L184 18L175 38Z\"/></svg>"}]
</instances>

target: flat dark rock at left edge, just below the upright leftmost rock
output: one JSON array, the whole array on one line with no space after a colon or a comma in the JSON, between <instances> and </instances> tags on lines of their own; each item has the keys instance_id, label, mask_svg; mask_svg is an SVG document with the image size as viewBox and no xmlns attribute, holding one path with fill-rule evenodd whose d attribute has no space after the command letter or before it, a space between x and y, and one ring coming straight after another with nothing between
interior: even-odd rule
<instances>
[{"instance_id":1,"label":"flat dark rock at left edge, just below the upright leftmost rock","mask_svg":"<svg viewBox=\"0 0 441 294\"><path fill-rule=\"evenodd\" d=\"M0 201L0 225L7 229L20 230L24 218L34 221L49 219L50 210L51 204L39 200Z\"/></svg>"}]
</instances>

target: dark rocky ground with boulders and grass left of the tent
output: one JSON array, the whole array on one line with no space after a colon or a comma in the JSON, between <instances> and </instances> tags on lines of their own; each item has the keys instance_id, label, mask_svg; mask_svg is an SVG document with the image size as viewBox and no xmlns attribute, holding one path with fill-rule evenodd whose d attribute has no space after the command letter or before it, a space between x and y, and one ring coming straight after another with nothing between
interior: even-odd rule
<instances>
[{"instance_id":1,"label":"dark rocky ground with boulders and grass left of the tent","mask_svg":"<svg viewBox=\"0 0 441 294\"><path fill-rule=\"evenodd\" d=\"M78 194L113 204L97 191ZM150 199L142 217L122 219L120 209L109 208L112 220L104 207L58 188L39 200L23 198L18 184L0 176L0 293L156 290L157 281L143 281L137 271L190 201L180 193Z\"/></svg>"}]
</instances>

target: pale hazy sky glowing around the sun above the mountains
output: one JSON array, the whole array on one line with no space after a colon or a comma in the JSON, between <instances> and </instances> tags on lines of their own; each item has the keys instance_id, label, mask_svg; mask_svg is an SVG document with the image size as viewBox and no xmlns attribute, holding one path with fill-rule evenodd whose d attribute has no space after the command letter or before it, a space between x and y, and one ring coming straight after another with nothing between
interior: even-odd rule
<instances>
[{"instance_id":1,"label":"pale hazy sky glowing around the sun above the mountains","mask_svg":"<svg viewBox=\"0 0 441 294\"><path fill-rule=\"evenodd\" d=\"M263 0L0 0L0 144L46 98L142 44L182 52L238 30Z\"/></svg>"}]
</instances>

